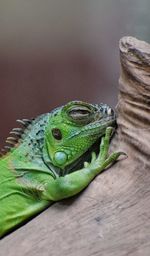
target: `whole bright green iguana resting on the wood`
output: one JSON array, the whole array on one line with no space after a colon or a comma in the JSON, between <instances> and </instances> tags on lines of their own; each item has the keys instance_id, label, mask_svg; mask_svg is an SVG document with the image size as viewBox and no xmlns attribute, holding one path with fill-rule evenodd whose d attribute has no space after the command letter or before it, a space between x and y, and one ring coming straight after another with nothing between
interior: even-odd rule
<instances>
[{"instance_id":1,"label":"whole bright green iguana resting on the wood","mask_svg":"<svg viewBox=\"0 0 150 256\"><path fill-rule=\"evenodd\" d=\"M123 154L108 156L115 114L106 104L72 101L18 121L24 128L10 132L8 152L0 158L0 237L82 191Z\"/></svg>"}]
</instances>

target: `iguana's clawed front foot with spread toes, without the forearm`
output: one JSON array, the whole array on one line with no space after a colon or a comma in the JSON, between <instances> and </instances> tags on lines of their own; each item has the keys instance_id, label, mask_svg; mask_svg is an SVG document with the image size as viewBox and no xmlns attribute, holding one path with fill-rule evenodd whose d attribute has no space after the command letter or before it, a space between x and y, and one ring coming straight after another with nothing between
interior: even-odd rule
<instances>
[{"instance_id":1,"label":"iguana's clawed front foot with spread toes, without the forearm","mask_svg":"<svg viewBox=\"0 0 150 256\"><path fill-rule=\"evenodd\" d=\"M90 168L95 171L97 171L97 174L103 171L105 168L107 168L109 165L114 163L119 156L124 155L127 156L124 152L114 152L111 155L108 156L108 150L109 150L109 144L110 144L110 138L112 136L113 128L108 127L106 129L105 136L101 139L100 144L100 152L98 156L96 156L95 152L92 152L92 159L91 162L85 162L84 167Z\"/></svg>"}]
</instances>

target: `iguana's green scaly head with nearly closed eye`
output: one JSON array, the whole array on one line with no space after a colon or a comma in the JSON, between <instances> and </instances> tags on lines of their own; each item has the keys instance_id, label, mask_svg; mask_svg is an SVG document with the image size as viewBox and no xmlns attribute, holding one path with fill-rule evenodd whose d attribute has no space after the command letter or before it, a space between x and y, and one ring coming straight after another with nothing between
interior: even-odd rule
<instances>
[{"instance_id":1,"label":"iguana's green scaly head with nearly closed eye","mask_svg":"<svg viewBox=\"0 0 150 256\"><path fill-rule=\"evenodd\" d=\"M108 105L70 102L50 115L44 148L52 164L64 169L81 158L108 126L115 126L115 114Z\"/></svg>"}]
</instances>

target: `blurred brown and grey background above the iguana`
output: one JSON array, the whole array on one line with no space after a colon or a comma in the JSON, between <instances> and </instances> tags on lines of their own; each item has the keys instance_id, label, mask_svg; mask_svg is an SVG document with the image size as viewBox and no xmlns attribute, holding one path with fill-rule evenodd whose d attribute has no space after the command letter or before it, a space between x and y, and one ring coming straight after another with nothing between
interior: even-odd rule
<instances>
[{"instance_id":1,"label":"blurred brown and grey background above the iguana","mask_svg":"<svg viewBox=\"0 0 150 256\"><path fill-rule=\"evenodd\" d=\"M73 99L115 106L118 41L150 40L149 0L1 0L0 146L15 119Z\"/></svg>"}]
</instances>

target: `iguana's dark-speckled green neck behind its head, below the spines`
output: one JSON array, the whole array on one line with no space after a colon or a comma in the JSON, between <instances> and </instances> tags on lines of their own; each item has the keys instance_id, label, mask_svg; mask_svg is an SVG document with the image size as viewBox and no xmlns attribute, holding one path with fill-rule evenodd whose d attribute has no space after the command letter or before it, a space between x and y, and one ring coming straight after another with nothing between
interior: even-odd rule
<instances>
[{"instance_id":1,"label":"iguana's dark-speckled green neck behind its head, below the spines","mask_svg":"<svg viewBox=\"0 0 150 256\"><path fill-rule=\"evenodd\" d=\"M25 129L16 146L3 158L7 160L13 159L16 166L20 166L20 163L22 165L23 163L28 163L32 165L40 164L44 167L45 164L42 160L44 131L49 117L50 113L37 117Z\"/></svg>"}]
</instances>

